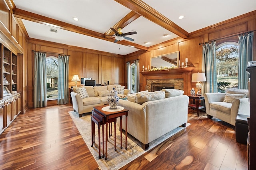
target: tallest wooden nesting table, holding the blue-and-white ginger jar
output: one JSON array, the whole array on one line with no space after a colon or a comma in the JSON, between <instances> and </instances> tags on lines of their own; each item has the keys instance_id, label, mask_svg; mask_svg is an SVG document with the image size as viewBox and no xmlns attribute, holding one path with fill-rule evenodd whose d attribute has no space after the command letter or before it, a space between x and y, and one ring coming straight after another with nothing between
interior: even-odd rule
<instances>
[{"instance_id":1,"label":"tallest wooden nesting table, holding the blue-and-white ginger jar","mask_svg":"<svg viewBox=\"0 0 256 170\"><path fill-rule=\"evenodd\" d=\"M105 124L106 124L106 156L105 156L105 160L108 159L108 123L112 122L113 119L116 119L118 117L120 117L120 130L121 130L121 134L120 134L120 144L121 144L121 149L123 148L122 147L122 116L125 115L125 149L127 149L127 116L128 116L128 110L126 109L122 109L122 110L118 110L115 111L115 109L113 110L109 110L107 109L108 111L105 111L106 108L104 107L109 107L109 106L106 106L106 105L103 105L103 106L96 106L96 107L93 107L93 110L100 113L101 115L103 115L105 117ZM102 108L104 108L102 110ZM114 123L114 135L115 135L115 150L116 150L116 123ZM103 148L104 150L104 148ZM103 156L104 157L104 156Z\"/></svg>"}]
</instances>

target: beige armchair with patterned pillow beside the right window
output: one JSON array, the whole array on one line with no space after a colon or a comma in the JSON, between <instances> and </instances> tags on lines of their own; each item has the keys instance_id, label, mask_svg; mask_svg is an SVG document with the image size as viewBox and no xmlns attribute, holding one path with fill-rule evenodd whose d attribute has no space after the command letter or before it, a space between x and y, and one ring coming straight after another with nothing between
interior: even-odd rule
<instances>
[{"instance_id":1,"label":"beige armchair with patterned pillow beside the right window","mask_svg":"<svg viewBox=\"0 0 256 170\"><path fill-rule=\"evenodd\" d=\"M248 90L244 89L227 89L226 93L205 93L205 107L208 118L216 117L235 126L237 114L250 115L248 95ZM228 99L230 96L231 100ZM243 98L238 98L239 96L243 96Z\"/></svg>"}]
</instances>

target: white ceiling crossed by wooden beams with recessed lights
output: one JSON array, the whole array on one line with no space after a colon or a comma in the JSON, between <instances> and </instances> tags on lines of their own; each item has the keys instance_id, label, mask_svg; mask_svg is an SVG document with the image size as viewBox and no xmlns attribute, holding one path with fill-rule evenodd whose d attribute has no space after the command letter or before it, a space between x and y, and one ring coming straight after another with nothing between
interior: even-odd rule
<instances>
[{"instance_id":1,"label":"white ceiling crossed by wooden beams with recessed lights","mask_svg":"<svg viewBox=\"0 0 256 170\"><path fill-rule=\"evenodd\" d=\"M255 0L13 0L30 38L126 55L256 10ZM183 19L178 19L184 16ZM79 21L74 21L76 17ZM112 28L133 32L114 43ZM57 30L57 33L50 32ZM167 36L163 36L167 35Z\"/></svg>"}]
</instances>

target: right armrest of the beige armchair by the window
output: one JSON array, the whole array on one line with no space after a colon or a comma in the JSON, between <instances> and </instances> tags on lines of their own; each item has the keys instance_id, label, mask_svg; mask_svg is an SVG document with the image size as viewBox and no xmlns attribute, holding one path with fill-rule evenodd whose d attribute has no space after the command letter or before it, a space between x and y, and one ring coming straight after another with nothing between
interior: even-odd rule
<instances>
[{"instance_id":1,"label":"right armrest of the beige armchair by the window","mask_svg":"<svg viewBox=\"0 0 256 170\"><path fill-rule=\"evenodd\" d=\"M237 114L250 116L250 102L248 98L236 99L231 106L231 124L236 123Z\"/></svg>"}]
</instances>

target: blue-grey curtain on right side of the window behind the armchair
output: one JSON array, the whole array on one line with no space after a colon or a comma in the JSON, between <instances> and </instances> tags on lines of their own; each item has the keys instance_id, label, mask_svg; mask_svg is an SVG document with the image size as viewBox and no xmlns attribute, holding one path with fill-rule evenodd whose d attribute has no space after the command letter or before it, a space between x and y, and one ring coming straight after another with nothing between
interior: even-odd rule
<instances>
[{"instance_id":1,"label":"blue-grey curtain on right side of the window behind the armchair","mask_svg":"<svg viewBox=\"0 0 256 170\"><path fill-rule=\"evenodd\" d=\"M238 38L238 89L248 89L249 74L246 73L246 67L248 61L252 61L253 32Z\"/></svg>"}]
</instances>

